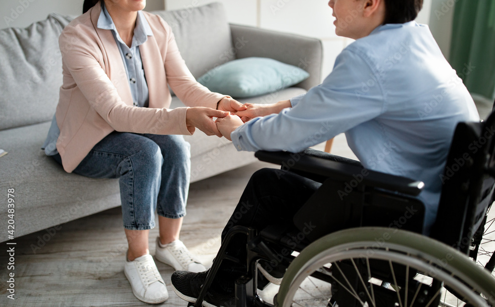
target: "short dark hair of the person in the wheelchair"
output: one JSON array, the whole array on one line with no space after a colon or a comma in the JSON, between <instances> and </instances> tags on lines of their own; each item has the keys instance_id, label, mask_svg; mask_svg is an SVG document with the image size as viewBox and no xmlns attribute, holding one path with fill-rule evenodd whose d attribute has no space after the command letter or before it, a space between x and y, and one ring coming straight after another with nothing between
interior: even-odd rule
<instances>
[{"instance_id":1,"label":"short dark hair of the person in the wheelchair","mask_svg":"<svg viewBox=\"0 0 495 307\"><path fill-rule=\"evenodd\" d=\"M388 23L406 23L416 19L423 7L423 0L385 0L385 21Z\"/></svg>"}]
</instances>

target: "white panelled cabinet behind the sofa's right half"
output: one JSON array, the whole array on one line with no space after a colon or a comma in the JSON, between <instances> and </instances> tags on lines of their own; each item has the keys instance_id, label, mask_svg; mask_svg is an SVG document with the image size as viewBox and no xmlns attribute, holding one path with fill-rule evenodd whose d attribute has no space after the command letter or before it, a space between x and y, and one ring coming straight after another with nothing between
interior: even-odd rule
<instances>
[{"instance_id":1,"label":"white panelled cabinet behind the sofa's right half","mask_svg":"<svg viewBox=\"0 0 495 307\"><path fill-rule=\"evenodd\" d=\"M335 35L332 9L327 0L164 0L165 9L222 2L229 22L315 37L323 41L323 78L333 68L337 55L352 40ZM418 16L429 23L432 0L424 0Z\"/></svg>"}]
</instances>

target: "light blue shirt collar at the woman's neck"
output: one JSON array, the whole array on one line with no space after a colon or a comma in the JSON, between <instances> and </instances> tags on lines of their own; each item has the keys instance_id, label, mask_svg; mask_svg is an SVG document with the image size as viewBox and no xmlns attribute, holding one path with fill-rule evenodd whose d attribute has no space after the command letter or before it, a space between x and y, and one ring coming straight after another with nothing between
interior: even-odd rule
<instances>
[{"instance_id":1,"label":"light blue shirt collar at the woman's neck","mask_svg":"<svg viewBox=\"0 0 495 307\"><path fill-rule=\"evenodd\" d=\"M117 32L117 28L113 23L112 17L110 16L110 14L108 14L108 11L106 10L106 7L103 3L101 3L101 12L99 13L97 27L99 29L112 30L115 33L115 37L117 38L117 40L120 43L125 44L120 38ZM146 17L143 14L143 12L138 11L138 17L136 19L136 28L134 28L134 37L132 39L131 47L144 44L148 40L148 36L153 36L153 32L151 31L151 28L149 27L148 24L148 20L146 20Z\"/></svg>"}]
</instances>

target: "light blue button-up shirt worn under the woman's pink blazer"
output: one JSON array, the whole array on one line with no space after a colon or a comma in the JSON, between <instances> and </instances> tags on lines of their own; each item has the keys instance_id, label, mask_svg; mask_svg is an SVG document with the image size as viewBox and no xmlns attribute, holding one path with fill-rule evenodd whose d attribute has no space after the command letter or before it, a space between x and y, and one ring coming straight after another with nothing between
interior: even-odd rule
<instances>
[{"instance_id":1,"label":"light blue button-up shirt worn under the woman's pink blazer","mask_svg":"<svg viewBox=\"0 0 495 307\"><path fill-rule=\"evenodd\" d=\"M134 106L148 107L148 84L146 83L145 71L141 60L141 53L139 51L139 45L144 44L148 40L148 36L153 35L148 21L146 20L143 12L138 11L136 27L134 28L134 36L132 38L131 47L129 47L120 38L112 17L108 14L103 2L101 3L101 8L97 27L99 29L112 30L113 37L115 38L115 42L119 48L122 61L124 62L125 71L129 79L129 86L131 88ZM42 147L47 155L52 156L58 153L56 149L56 142L59 135L60 130L58 129L55 115L53 115L47 139Z\"/></svg>"}]
</instances>

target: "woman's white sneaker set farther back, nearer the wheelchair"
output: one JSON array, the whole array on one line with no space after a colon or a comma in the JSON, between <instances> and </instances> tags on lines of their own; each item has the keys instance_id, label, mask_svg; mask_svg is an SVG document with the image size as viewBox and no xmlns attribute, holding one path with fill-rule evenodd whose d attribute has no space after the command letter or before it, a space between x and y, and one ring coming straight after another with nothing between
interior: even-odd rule
<instances>
[{"instance_id":1,"label":"woman's white sneaker set farther back, nearer the wheelchair","mask_svg":"<svg viewBox=\"0 0 495 307\"><path fill-rule=\"evenodd\" d=\"M181 240L162 245L156 238L156 260L173 266L175 270L202 272L206 268L186 248Z\"/></svg>"}]
</instances>

